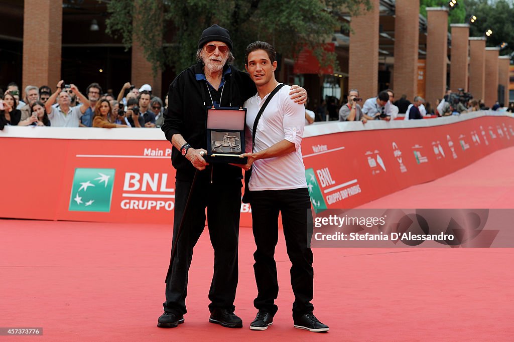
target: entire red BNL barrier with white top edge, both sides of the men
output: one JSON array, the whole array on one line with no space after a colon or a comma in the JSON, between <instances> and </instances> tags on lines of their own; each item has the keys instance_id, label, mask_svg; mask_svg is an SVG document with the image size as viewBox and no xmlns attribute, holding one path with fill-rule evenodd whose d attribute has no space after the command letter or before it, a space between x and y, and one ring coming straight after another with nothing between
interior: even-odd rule
<instances>
[{"instance_id":1,"label":"entire red BNL barrier with white top edge, both sides of the men","mask_svg":"<svg viewBox=\"0 0 514 342\"><path fill-rule=\"evenodd\" d=\"M326 123L305 129L315 209L352 208L514 145L509 116ZM171 223L175 170L160 130L6 127L0 217ZM394 206L394 203L392 203ZM251 226L241 205L241 225Z\"/></svg>"}]
</instances>

